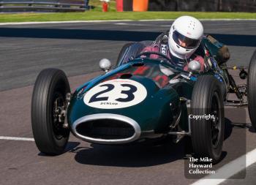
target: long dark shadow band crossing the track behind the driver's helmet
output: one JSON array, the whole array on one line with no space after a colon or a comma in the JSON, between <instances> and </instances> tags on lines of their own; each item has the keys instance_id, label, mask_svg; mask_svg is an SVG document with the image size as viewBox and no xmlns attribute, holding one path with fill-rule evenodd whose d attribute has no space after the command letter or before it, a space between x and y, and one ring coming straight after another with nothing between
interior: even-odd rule
<instances>
[{"instance_id":1,"label":"long dark shadow band crossing the track behind the driver's helmet","mask_svg":"<svg viewBox=\"0 0 256 185\"><path fill-rule=\"evenodd\" d=\"M160 32L151 31L116 31L94 29L34 29L34 28L0 28L0 37L26 37L45 39L94 39L116 41L142 41L155 39ZM211 34L211 33L208 33ZM225 43L235 46L256 46L256 35L211 34Z\"/></svg>"}]
</instances>

